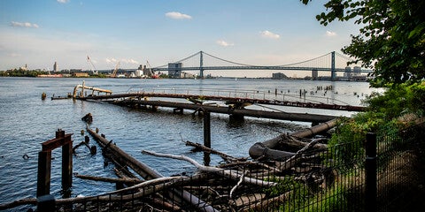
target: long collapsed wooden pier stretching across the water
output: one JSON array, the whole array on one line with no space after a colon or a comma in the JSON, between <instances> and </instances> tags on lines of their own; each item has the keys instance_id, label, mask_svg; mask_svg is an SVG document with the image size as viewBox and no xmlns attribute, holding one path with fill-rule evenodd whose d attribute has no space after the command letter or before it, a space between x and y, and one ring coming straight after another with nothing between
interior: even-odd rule
<instances>
[{"instance_id":1,"label":"long collapsed wooden pier stretching across the water","mask_svg":"<svg viewBox=\"0 0 425 212\"><path fill-rule=\"evenodd\" d=\"M196 95L189 94L175 94L164 92L131 92L126 94L114 94L111 91L105 92L105 95L81 95L82 90L77 94L77 90L81 86L74 88L73 96L75 99L83 101L100 101L110 102L112 104L126 106L131 108L151 108L157 110L159 107L171 108L174 113L183 113L183 110L192 110L195 112L209 111L212 113L228 114L231 117L258 117L258 118L271 118L288 121L301 121L320 124L329 120L335 119L336 116L309 114L309 113L295 113L284 112L276 110L271 107L286 106L286 107L302 107L310 109L321 110L346 110L346 111L361 111L364 110L360 106L343 105L343 104L328 104L323 102L294 102L285 101L284 96L282 100L277 92L274 99L257 98L260 94L244 93L243 95ZM82 86L84 88L84 86ZM104 91L104 89L89 87L93 91ZM174 91L175 92L175 91ZM210 93L218 94L219 91ZM201 91L202 93L202 91ZM256 110L251 105L260 106L262 110ZM268 106L266 106L268 105ZM264 110L264 109L267 110Z\"/></svg>"}]
</instances>

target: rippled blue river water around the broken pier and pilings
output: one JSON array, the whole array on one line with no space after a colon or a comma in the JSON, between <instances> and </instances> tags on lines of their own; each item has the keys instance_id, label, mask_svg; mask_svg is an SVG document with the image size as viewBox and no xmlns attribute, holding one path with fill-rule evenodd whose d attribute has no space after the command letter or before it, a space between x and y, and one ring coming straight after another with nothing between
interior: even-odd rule
<instances>
[{"instance_id":1,"label":"rippled blue river water around the broken pier and pilings","mask_svg":"<svg viewBox=\"0 0 425 212\"><path fill-rule=\"evenodd\" d=\"M73 133L73 144L84 140L81 130L85 123L81 117L93 115L92 128L99 128L106 138L113 140L124 149L163 175L195 171L189 163L142 155L141 150L161 153L189 155L202 163L202 153L191 153L182 140L202 143L202 119L189 115L174 115L170 110L149 112L132 110L107 103L68 100L50 101L52 95L66 95L83 79L35 79L0 78L0 203L21 198L35 197L37 178L37 154L45 140L54 138L60 128ZM266 79L84 79L87 86L111 89L115 94L125 93L142 87L189 87L233 90L257 90L278 92L297 96L299 89L305 89L315 98L329 103L346 102L359 105L360 100L373 91L366 82L330 82L303 80ZM333 91L318 91L316 87L333 86ZM45 92L48 98L41 100ZM314 92L314 93L313 93ZM356 95L354 95L354 92ZM312 94L310 94L312 93ZM337 100L333 100L336 98ZM304 101L299 98L298 101ZM257 108L261 109L259 106ZM263 110L267 110L264 109ZM331 115L350 116L351 113L280 108L279 110L315 112ZM228 116L212 114L212 148L235 156L247 156L248 149L255 142L274 138L279 133L292 132L309 123L284 122L267 119L245 118L243 123L229 123ZM94 140L90 145L97 145ZM77 149L73 157L73 172L83 175L115 178L113 165L104 165L99 153L90 155L87 148ZM29 159L22 156L28 155ZM61 198L60 193L60 148L53 151L50 193ZM212 156L212 164L220 163L220 157ZM114 185L73 178L72 196L93 195L111 191Z\"/></svg>"}]
</instances>

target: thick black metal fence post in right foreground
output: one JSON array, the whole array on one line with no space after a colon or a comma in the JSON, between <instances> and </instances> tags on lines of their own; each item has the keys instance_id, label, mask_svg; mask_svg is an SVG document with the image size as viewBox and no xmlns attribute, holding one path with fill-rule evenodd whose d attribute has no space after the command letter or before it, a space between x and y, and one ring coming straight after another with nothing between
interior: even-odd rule
<instances>
[{"instance_id":1,"label":"thick black metal fence post in right foreground","mask_svg":"<svg viewBox=\"0 0 425 212\"><path fill-rule=\"evenodd\" d=\"M365 211L376 211L376 134L366 135L366 195Z\"/></svg>"}]
</instances>

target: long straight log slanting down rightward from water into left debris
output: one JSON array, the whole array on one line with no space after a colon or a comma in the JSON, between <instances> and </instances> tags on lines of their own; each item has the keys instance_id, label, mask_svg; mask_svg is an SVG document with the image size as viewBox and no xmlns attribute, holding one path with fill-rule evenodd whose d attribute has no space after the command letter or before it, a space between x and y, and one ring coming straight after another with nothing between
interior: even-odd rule
<instances>
[{"instance_id":1,"label":"long straight log slanting down rightward from water into left debris","mask_svg":"<svg viewBox=\"0 0 425 212\"><path fill-rule=\"evenodd\" d=\"M122 151L120 148L111 144L110 140L106 140L103 136L89 129L89 126L87 126L87 131L95 138L95 140L97 140L99 145L101 145L103 148L108 148L109 150L111 150L112 155L115 155L117 160L120 160L122 161L122 163L127 164L132 170L135 170L135 172L139 174L142 178L149 180L153 178L163 177L157 171L152 170L151 167L135 160L134 157L132 157L131 155L128 155L126 152ZM199 208L202 211L207 211L207 212L218 211L217 209L208 205L205 201L200 200L199 198L197 198L196 196L190 194L189 192L185 190L172 189L172 193L170 193L170 196L174 197L174 199L175 197L180 197L182 198L182 200L189 202L190 204Z\"/></svg>"}]
</instances>

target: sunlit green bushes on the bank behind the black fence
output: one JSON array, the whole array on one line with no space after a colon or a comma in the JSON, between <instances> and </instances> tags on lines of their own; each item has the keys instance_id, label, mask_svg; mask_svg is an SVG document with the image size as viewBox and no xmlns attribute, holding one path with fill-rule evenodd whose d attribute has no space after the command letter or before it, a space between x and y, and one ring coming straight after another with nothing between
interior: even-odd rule
<instances>
[{"instance_id":1,"label":"sunlit green bushes on the bank behind the black fence","mask_svg":"<svg viewBox=\"0 0 425 212\"><path fill-rule=\"evenodd\" d=\"M328 141L330 155L342 171L350 171L361 162L367 133L397 134L415 118L423 117L425 82L393 85L383 94L369 97L365 103L368 110L343 120Z\"/></svg>"}]
</instances>

